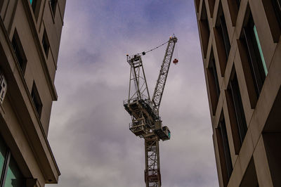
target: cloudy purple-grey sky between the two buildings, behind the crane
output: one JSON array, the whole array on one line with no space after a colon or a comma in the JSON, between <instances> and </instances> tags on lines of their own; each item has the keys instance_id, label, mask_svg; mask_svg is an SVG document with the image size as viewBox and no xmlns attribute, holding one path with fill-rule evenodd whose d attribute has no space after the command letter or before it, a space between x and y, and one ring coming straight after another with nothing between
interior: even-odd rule
<instances>
[{"instance_id":1,"label":"cloudy purple-grey sky between the two buildings, behind the crane","mask_svg":"<svg viewBox=\"0 0 281 187\"><path fill-rule=\"evenodd\" d=\"M48 140L61 187L145 186L144 140L129 130L126 54L178 37L160 106L162 187L218 186L193 0L67 0ZM166 46L143 57L150 94ZM53 185L47 185L53 186ZM55 186L55 185L54 185Z\"/></svg>"}]
</instances>

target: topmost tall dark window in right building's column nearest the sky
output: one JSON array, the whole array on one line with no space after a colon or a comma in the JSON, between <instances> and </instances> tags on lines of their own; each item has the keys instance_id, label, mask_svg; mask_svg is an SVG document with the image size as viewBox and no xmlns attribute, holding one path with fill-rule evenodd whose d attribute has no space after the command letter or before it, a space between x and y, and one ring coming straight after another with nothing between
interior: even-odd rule
<instances>
[{"instance_id":1,"label":"topmost tall dark window in right building's column nearest the sky","mask_svg":"<svg viewBox=\"0 0 281 187\"><path fill-rule=\"evenodd\" d=\"M201 12L201 17L200 17L200 21L199 21L199 26L200 26L200 34L201 34L201 40L202 40L203 56L204 56L204 58L206 58L208 44L209 44L210 27L209 27L209 21L208 21L208 17L207 17L205 1L202 2L202 12Z\"/></svg>"}]
</instances>

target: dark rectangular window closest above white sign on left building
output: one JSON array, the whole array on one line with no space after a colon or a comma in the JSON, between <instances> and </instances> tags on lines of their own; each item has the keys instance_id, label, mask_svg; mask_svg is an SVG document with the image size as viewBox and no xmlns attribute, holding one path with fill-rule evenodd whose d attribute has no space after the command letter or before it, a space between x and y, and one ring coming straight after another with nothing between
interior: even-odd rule
<instances>
[{"instance_id":1,"label":"dark rectangular window closest above white sign on left building","mask_svg":"<svg viewBox=\"0 0 281 187\"><path fill-rule=\"evenodd\" d=\"M27 59L25 57L25 53L22 48L22 44L20 43L20 37L18 37L18 32L15 30L12 39L13 50L15 51L15 56L17 57L18 64L20 65L20 69L22 73L25 73L25 67L27 64Z\"/></svg>"}]
</instances>

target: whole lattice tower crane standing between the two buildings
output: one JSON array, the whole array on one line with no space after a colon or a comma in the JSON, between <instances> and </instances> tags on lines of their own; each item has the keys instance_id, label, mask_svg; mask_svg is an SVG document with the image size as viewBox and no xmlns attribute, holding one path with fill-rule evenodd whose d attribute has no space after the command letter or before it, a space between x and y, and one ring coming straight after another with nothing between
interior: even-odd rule
<instances>
[{"instance_id":1,"label":"whole lattice tower crane standing between the two buildings","mask_svg":"<svg viewBox=\"0 0 281 187\"><path fill-rule=\"evenodd\" d=\"M133 134L144 138L145 140L146 187L161 186L159 140L169 140L171 138L171 132L168 127L162 125L162 120L159 116L159 106L162 100L166 78L171 64L171 58L177 41L178 39L175 36L170 37L169 41L166 41L168 44L152 99L150 99L141 56L144 56L145 53L154 49L143 53L137 53L133 56L127 55L126 58L131 70L129 97L124 101L124 108L127 112L129 112L129 115L131 115L129 129L133 132ZM176 58L174 63L178 63Z\"/></svg>"}]
</instances>

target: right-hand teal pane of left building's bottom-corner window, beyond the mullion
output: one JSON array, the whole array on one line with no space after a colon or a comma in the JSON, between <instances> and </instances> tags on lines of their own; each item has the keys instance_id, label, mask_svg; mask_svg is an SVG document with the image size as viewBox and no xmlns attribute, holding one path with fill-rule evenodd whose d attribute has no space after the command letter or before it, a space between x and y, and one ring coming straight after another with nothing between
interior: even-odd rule
<instances>
[{"instance_id":1,"label":"right-hand teal pane of left building's bottom-corner window, beyond the mullion","mask_svg":"<svg viewBox=\"0 0 281 187\"><path fill-rule=\"evenodd\" d=\"M22 187L22 181L23 176L20 172L20 169L18 169L17 163L13 157L11 157L4 187Z\"/></svg>"}]
</instances>

